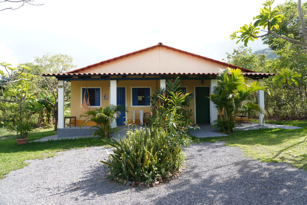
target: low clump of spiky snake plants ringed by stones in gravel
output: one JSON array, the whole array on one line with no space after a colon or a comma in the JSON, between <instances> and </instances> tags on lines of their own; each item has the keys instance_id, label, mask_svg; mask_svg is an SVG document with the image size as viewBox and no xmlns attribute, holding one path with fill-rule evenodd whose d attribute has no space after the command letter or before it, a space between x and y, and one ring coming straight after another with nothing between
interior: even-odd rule
<instances>
[{"instance_id":1,"label":"low clump of spiky snake plants ringed by stones in gravel","mask_svg":"<svg viewBox=\"0 0 307 205\"><path fill-rule=\"evenodd\" d=\"M128 131L126 137L119 142L111 138L113 143L103 140L114 147L108 161L101 161L110 167L111 179L122 182L145 181L147 184L157 181L166 172L176 173L184 163L185 155L177 138L164 128L143 128ZM185 144L190 139L185 139Z\"/></svg>"}]
</instances>

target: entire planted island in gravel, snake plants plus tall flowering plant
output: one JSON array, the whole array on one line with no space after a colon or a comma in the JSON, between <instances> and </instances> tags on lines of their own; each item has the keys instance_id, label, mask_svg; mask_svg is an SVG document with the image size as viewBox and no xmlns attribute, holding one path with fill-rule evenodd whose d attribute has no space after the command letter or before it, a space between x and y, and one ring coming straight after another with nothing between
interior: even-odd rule
<instances>
[{"instance_id":1,"label":"entire planted island in gravel, snake plants plus tall flowering plant","mask_svg":"<svg viewBox=\"0 0 307 205\"><path fill-rule=\"evenodd\" d=\"M184 163L182 148L192 142L189 129L196 129L188 109L191 98L180 89L179 78L168 80L166 85L151 96L156 109L147 117L149 128L128 131L119 142L104 140L114 147L108 162L101 161L110 166L111 179L150 184L167 172L175 174Z\"/></svg>"}]
</instances>

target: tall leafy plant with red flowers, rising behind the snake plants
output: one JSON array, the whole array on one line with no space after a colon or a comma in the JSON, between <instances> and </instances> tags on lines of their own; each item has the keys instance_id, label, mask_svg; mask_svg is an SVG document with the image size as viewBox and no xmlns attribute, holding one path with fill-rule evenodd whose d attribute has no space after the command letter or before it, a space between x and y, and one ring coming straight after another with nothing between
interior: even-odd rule
<instances>
[{"instance_id":1,"label":"tall leafy plant with red flowers, rising behind the snake plants","mask_svg":"<svg viewBox=\"0 0 307 205\"><path fill-rule=\"evenodd\" d=\"M174 140L179 140L181 144L188 145L191 141L189 130L197 129L192 126L192 109L189 109L191 97L190 93L184 93L179 83L179 77L165 82L166 89L156 89L151 95L153 106L152 115L147 117L153 127L165 128Z\"/></svg>"}]
</instances>

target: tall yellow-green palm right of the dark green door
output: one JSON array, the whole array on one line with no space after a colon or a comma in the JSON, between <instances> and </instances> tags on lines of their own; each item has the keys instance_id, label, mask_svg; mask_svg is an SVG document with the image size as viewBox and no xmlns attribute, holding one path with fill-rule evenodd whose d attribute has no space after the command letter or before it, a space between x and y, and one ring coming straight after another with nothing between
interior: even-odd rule
<instances>
[{"instance_id":1,"label":"tall yellow-green palm right of the dark green door","mask_svg":"<svg viewBox=\"0 0 307 205\"><path fill-rule=\"evenodd\" d=\"M217 75L217 86L209 98L221 117L212 124L212 127L232 133L235 118L239 113L259 112L264 116L265 111L258 104L242 104L243 101L248 100L251 93L258 90L263 90L270 95L270 88L261 82L251 81L242 74L240 69L220 69Z\"/></svg>"}]
</instances>

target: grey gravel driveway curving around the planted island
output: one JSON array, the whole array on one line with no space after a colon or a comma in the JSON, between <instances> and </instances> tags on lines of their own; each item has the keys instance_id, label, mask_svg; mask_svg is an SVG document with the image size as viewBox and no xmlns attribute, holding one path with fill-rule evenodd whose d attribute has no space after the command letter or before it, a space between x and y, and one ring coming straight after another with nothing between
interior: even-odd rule
<instances>
[{"instance_id":1,"label":"grey gravel driveway curving around the planted island","mask_svg":"<svg viewBox=\"0 0 307 205\"><path fill-rule=\"evenodd\" d=\"M157 187L126 187L104 179L99 160L111 148L59 152L31 160L0 180L0 204L307 204L307 172L262 163L223 142L185 149L181 179ZM192 193L194 192L194 193Z\"/></svg>"}]
</instances>

